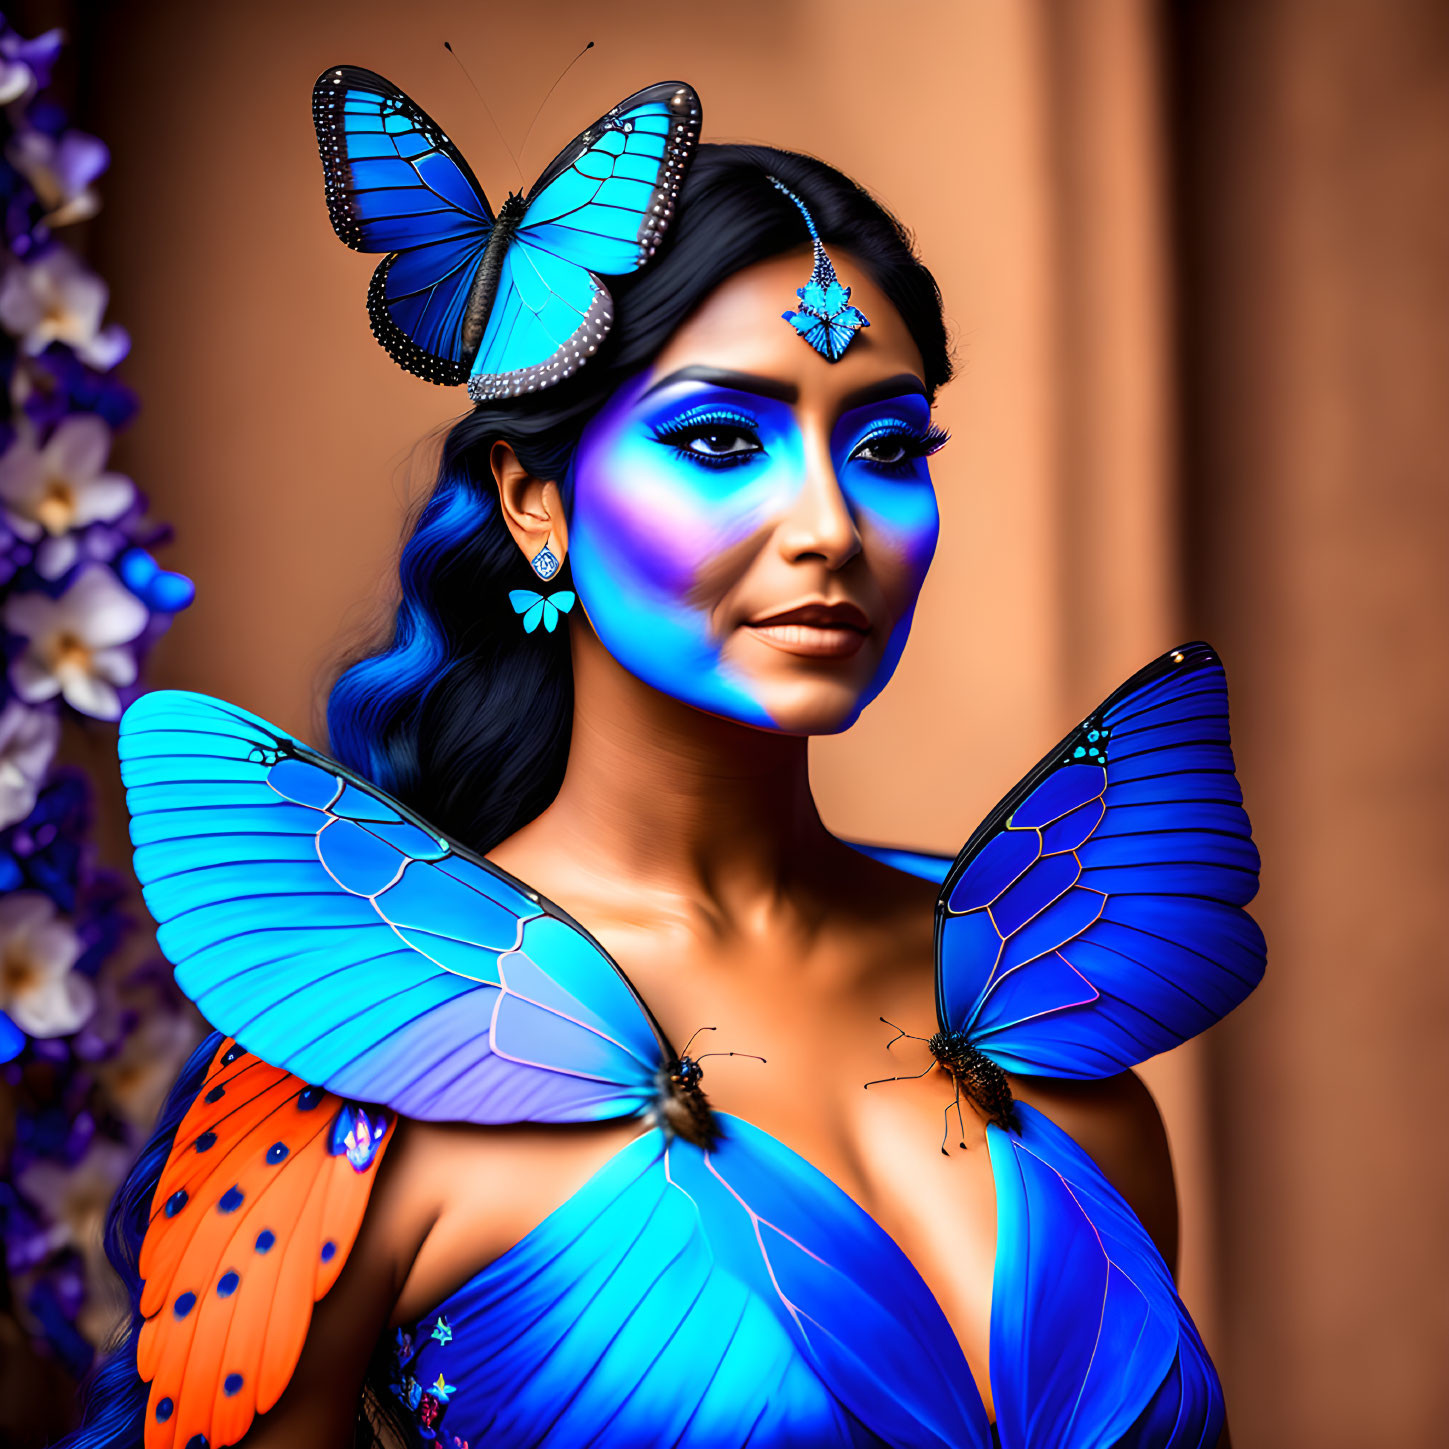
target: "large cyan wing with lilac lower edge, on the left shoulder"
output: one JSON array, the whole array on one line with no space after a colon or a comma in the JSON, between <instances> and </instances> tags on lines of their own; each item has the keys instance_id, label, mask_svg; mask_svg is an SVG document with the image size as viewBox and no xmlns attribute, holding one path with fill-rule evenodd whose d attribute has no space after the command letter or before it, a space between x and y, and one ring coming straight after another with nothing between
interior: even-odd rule
<instances>
[{"instance_id":1,"label":"large cyan wing with lilac lower edge, on the left shoulder","mask_svg":"<svg viewBox=\"0 0 1449 1449\"><path fill-rule=\"evenodd\" d=\"M136 874L177 982L309 1082L448 1122L590 1122L668 1055L582 927L342 767L201 694L120 727Z\"/></svg>"}]
</instances>

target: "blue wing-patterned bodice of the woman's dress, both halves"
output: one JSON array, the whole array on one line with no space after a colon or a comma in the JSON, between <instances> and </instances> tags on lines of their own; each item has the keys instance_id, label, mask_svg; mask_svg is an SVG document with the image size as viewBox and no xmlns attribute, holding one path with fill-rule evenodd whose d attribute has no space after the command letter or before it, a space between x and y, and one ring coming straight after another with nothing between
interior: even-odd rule
<instances>
[{"instance_id":1,"label":"blue wing-patterned bodice of the woman's dress, both halves","mask_svg":"<svg viewBox=\"0 0 1449 1449\"><path fill-rule=\"evenodd\" d=\"M1000 1214L987 1339L1001 1442L1214 1442L1201 1343L1090 1159L1030 1108L1019 1133L990 1129L982 1155ZM396 1392L443 1442L993 1442L966 1343L903 1246L736 1117L707 1151L635 1137L397 1348Z\"/></svg>"}]
</instances>

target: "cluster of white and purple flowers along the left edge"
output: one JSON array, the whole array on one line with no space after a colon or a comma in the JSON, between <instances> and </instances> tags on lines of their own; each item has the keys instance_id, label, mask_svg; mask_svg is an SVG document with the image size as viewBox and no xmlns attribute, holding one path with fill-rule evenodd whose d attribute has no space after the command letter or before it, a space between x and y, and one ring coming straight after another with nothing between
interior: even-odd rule
<instances>
[{"instance_id":1,"label":"cluster of white and purple flowers along the left edge","mask_svg":"<svg viewBox=\"0 0 1449 1449\"><path fill-rule=\"evenodd\" d=\"M9 1294L72 1372L109 1332L106 1206L194 1040L170 974L125 974L125 885L96 867L67 720L114 720L191 584L110 467L135 412L109 293L57 233L106 146L51 99L62 36L0 16L0 1236Z\"/></svg>"}]
</instances>

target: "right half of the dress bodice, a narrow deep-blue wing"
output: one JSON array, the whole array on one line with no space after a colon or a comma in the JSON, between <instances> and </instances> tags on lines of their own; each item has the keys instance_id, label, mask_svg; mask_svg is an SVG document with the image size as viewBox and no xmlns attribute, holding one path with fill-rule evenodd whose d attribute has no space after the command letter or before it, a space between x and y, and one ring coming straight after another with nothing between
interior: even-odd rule
<instances>
[{"instance_id":1,"label":"right half of the dress bodice, a narrow deep-blue wing","mask_svg":"<svg viewBox=\"0 0 1449 1449\"><path fill-rule=\"evenodd\" d=\"M987 1127L1003 1449L1216 1445L1222 1387L1152 1239L1065 1132L1017 1114L1019 1132Z\"/></svg>"}]
</instances>

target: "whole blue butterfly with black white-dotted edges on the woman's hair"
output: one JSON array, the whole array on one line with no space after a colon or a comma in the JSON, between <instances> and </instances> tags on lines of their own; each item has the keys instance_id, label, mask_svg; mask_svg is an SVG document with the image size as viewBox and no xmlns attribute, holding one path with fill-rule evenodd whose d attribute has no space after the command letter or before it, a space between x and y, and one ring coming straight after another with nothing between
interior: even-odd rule
<instances>
[{"instance_id":1,"label":"whole blue butterfly with black white-dotted edges on the woman's hair","mask_svg":"<svg viewBox=\"0 0 1449 1449\"><path fill-rule=\"evenodd\" d=\"M609 288L668 230L700 135L700 100L661 81L567 145L494 216L468 162L391 81L325 71L312 116L338 236L387 252L368 288L372 333L429 383L475 401L574 372L613 322Z\"/></svg>"}]
</instances>

